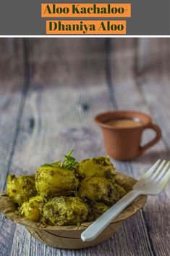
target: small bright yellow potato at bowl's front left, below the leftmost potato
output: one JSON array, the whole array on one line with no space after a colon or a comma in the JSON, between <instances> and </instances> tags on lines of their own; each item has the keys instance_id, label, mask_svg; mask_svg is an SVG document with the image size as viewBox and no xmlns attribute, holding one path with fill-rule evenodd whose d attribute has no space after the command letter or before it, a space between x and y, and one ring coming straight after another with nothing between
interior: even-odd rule
<instances>
[{"instance_id":1,"label":"small bright yellow potato at bowl's front left, below the leftmost potato","mask_svg":"<svg viewBox=\"0 0 170 256\"><path fill-rule=\"evenodd\" d=\"M24 202L19 208L20 215L27 220L38 221L40 219L41 196L30 197L29 201Z\"/></svg>"}]
</instances>

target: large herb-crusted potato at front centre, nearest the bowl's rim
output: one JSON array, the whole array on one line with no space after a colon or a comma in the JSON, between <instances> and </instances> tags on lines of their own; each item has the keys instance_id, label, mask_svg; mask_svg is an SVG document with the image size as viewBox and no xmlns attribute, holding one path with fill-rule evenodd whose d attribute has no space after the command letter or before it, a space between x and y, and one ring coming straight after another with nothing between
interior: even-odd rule
<instances>
[{"instance_id":1,"label":"large herb-crusted potato at front centre, nearest the bowl's rim","mask_svg":"<svg viewBox=\"0 0 170 256\"><path fill-rule=\"evenodd\" d=\"M88 217L88 205L78 197L54 197L43 205L43 222L50 225L77 225Z\"/></svg>"}]
</instances>

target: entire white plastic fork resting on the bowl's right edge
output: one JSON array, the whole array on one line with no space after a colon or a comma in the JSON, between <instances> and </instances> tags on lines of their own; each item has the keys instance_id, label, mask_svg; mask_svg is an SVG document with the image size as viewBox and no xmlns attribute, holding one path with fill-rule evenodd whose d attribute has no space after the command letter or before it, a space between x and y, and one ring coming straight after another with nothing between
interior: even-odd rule
<instances>
[{"instance_id":1,"label":"entire white plastic fork resting on the bowl's right edge","mask_svg":"<svg viewBox=\"0 0 170 256\"><path fill-rule=\"evenodd\" d=\"M158 160L149 170L145 173L140 180L133 186L122 199L116 202L109 210L107 210L100 218L95 220L81 234L82 241L91 241L95 239L106 226L111 223L122 210L124 210L131 202L133 202L141 194L156 195L159 194L166 186L170 178L170 162L166 160Z\"/></svg>"}]
</instances>

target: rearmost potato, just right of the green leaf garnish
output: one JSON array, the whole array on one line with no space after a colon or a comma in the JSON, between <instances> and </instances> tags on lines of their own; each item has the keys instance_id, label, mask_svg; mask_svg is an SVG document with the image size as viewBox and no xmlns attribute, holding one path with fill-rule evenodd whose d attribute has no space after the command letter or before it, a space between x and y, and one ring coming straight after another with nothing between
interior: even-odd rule
<instances>
[{"instance_id":1,"label":"rearmost potato, just right of the green leaf garnish","mask_svg":"<svg viewBox=\"0 0 170 256\"><path fill-rule=\"evenodd\" d=\"M77 174L80 178L105 177L114 180L116 171L109 157L94 157L82 160L77 165Z\"/></svg>"}]
</instances>

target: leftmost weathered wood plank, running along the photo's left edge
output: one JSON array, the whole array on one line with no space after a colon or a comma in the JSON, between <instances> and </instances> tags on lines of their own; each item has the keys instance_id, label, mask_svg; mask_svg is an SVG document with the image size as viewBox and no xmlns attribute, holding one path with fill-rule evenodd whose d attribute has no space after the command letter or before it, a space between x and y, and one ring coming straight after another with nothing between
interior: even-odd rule
<instances>
[{"instance_id":1,"label":"leftmost weathered wood plank, running along the photo's left edge","mask_svg":"<svg viewBox=\"0 0 170 256\"><path fill-rule=\"evenodd\" d=\"M22 112L24 86L22 39L0 39L0 191L9 171L18 123ZM0 255L9 255L15 224L0 214Z\"/></svg>"}]
</instances>

